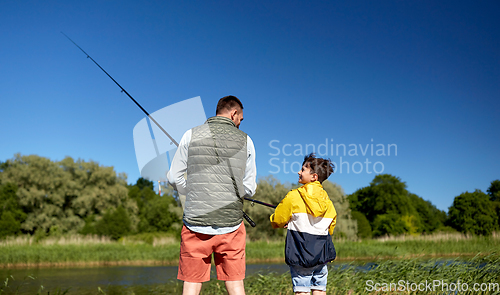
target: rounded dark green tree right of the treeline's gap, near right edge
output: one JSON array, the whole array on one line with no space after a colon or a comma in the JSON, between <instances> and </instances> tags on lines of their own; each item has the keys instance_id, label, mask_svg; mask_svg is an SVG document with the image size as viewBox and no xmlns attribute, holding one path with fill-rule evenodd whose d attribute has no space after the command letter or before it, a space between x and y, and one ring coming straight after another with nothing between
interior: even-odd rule
<instances>
[{"instance_id":1,"label":"rounded dark green tree right of the treeline's gap, near right edge","mask_svg":"<svg viewBox=\"0 0 500 295\"><path fill-rule=\"evenodd\" d=\"M488 195L476 190L455 197L448 224L462 233L488 236L498 229L498 217Z\"/></svg>"}]
</instances>

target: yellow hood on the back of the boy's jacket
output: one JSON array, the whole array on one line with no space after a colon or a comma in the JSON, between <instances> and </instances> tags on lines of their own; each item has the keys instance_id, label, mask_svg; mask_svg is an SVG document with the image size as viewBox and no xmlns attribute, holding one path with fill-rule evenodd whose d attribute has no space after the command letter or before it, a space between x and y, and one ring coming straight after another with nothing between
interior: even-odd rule
<instances>
[{"instance_id":1,"label":"yellow hood on the back of the boy's jacket","mask_svg":"<svg viewBox=\"0 0 500 295\"><path fill-rule=\"evenodd\" d=\"M325 214L330 198L319 181L306 183L297 190L306 204L307 213L314 217Z\"/></svg>"}]
</instances>

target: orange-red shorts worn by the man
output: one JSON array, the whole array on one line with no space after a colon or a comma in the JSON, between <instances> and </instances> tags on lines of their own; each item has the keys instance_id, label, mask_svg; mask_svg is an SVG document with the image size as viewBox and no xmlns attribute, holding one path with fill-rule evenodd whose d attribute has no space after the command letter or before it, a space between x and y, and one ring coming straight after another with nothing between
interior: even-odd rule
<instances>
[{"instance_id":1,"label":"orange-red shorts worn by the man","mask_svg":"<svg viewBox=\"0 0 500 295\"><path fill-rule=\"evenodd\" d=\"M181 251L177 279L202 283L210 281L210 266L214 254L217 279L240 281L245 278L245 238L243 222L234 232L206 235L189 230L181 231Z\"/></svg>"}]
</instances>

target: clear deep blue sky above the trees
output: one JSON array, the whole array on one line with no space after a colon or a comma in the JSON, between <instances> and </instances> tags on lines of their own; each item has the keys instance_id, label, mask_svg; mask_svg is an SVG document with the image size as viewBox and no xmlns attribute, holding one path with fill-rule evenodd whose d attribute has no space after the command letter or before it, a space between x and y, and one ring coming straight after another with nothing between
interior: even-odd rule
<instances>
[{"instance_id":1,"label":"clear deep blue sky above the trees","mask_svg":"<svg viewBox=\"0 0 500 295\"><path fill-rule=\"evenodd\" d=\"M211 116L238 96L261 177L296 182L294 154L314 146L343 162L330 180L346 193L375 170L447 211L500 179L499 14L498 1L1 1L0 160L140 175L143 113L63 31L150 112L200 96Z\"/></svg>"}]
</instances>

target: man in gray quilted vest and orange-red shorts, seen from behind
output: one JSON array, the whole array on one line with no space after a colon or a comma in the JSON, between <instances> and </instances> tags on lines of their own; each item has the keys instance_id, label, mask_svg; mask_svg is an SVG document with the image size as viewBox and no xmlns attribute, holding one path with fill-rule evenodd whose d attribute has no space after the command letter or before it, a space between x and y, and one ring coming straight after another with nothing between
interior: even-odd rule
<instances>
[{"instance_id":1,"label":"man in gray quilted vest and orange-red shorts, seen from behind","mask_svg":"<svg viewBox=\"0 0 500 295\"><path fill-rule=\"evenodd\" d=\"M168 181L186 195L177 275L184 295L199 294L210 280L212 253L217 278L225 281L228 293L245 294L242 208L243 198L255 193L257 172L255 148L239 130L241 121L241 101L221 98L216 116L188 130L172 159Z\"/></svg>"}]
</instances>

